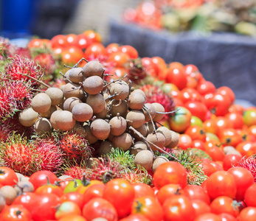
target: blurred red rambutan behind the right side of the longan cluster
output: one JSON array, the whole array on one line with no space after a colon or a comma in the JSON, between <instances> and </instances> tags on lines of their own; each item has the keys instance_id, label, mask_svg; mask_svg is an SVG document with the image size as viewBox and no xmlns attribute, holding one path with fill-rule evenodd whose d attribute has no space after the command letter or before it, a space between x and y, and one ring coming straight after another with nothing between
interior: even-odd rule
<instances>
[{"instance_id":1,"label":"blurred red rambutan behind the right side of the longan cluster","mask_svg":"<svg viewBox=\"0 0 256 221\"><path fill-rule=\"evenodd\" d=\"M146 95L146 103L158 102L163 105L165 112L174 111L175 103L173 102L173 98L170 94L166 94L162 91L162 88L158 85L142 85L139 89L144 91ZM170 114L172 113L165 114L164 118L167 119Z\"/></svg>"}]
</instances>

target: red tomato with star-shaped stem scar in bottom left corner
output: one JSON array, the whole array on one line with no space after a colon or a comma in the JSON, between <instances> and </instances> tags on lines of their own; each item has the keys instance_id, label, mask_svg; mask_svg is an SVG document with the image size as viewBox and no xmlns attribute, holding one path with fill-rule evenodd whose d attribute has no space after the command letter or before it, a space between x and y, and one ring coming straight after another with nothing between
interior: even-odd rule
<instances>
[{"instance_id":1,"label":"red tomato with star-shaped stem scar in bottom left corner","mask_svg":"<svg viewBox=\"0 0 256 221\"><path fill-rule=\"evenodd\" d=\"M1 221L32 221L32 215L27 208L22 205L5 206L0 214Z\"/></svg>"}]
</instances>

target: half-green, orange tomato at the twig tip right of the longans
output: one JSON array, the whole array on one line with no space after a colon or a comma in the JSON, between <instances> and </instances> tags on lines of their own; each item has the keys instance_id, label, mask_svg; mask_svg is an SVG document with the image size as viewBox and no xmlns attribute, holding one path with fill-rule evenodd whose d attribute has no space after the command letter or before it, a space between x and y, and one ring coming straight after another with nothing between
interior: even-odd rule
<instances>
[{"instance_id":1,"label":"half-green, orange tomato at the twig tip right of the longans","mask_svg":"<svg viewBox=\"0 0 256 221\"><path fill-rule=\"evenodd\" d=\"M176 112L168 119L170 130L178 133L184 132L190 126L192 114L187 108L176 106Z\"/></svg>"}]
</instances>

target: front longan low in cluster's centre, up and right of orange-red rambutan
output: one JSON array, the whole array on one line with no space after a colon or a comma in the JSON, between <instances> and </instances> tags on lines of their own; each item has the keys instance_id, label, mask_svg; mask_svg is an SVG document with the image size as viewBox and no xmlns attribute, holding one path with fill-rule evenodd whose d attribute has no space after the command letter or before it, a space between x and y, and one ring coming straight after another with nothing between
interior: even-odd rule
<instances>
[{"instance_id":1,"label":"front longan low in cluster's centre, up and right of orange-red rambutan","mask_svg":"<svg viewBox=\"0 0 256 221\"><path fill-rule=\"evenodd\" d=\"M99 140L105 140L110 133L110 124L103 119L95 119L91 122L91 133Z\"/></svg>"}]
</instances>

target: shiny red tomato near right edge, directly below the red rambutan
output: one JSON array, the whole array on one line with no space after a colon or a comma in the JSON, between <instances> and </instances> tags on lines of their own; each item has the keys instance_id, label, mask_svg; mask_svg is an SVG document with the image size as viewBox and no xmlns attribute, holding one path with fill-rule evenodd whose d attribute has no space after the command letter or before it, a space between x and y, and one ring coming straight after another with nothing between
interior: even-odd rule
<instances>
[{"instance_id":1,"label":"shiny red tomato near right edge, directly below the red rambutan","mask_svg":"<svg viewBox=\"0 0 256 221\"><path fill-rule=\"evenodd\" d=\"M252 172L249 172L248 169L243 167L232 167L227 172L229 172L235 178L237 189L235 200L243 200L246 189L255 183L255 178L253 177Z\"/></svg>"}]
</instances>

